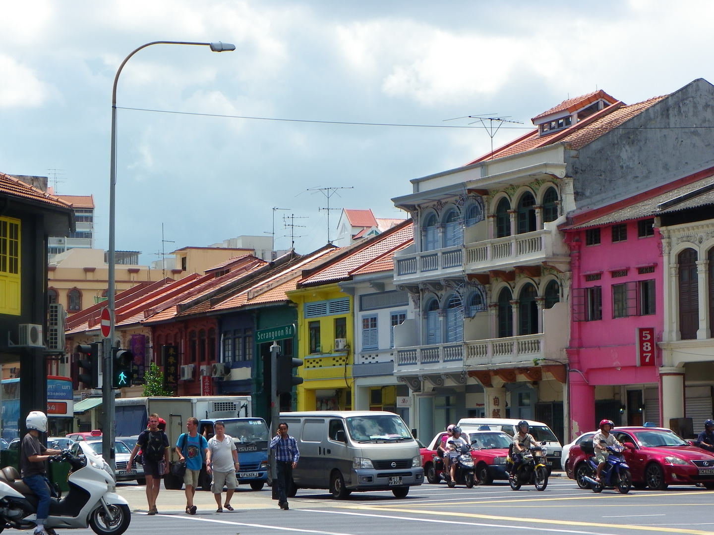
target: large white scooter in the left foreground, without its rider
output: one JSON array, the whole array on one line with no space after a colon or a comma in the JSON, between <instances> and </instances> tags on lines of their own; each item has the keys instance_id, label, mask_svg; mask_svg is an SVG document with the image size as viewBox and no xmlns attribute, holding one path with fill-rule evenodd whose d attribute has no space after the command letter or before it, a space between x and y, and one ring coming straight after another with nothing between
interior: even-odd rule
<instances>
[{"instance_id":1,"label":"large white scooter in the left foreground, without its rider","mask_svg":"<svg viewBox=\"0 0 714 535\"><path fill-rule=\"evenodd\" d=\"M79 442L79 447L84 459L70 452L55 456L71 466L69 493L52 498L45 526L57 529L91 526L97 535L121 535L131 521L129 502L114 492L116 480L109 464L86 442ZM14 467L0 470L0 531L6 527L34 528L37 504L37 496Z\"/></svg>"}]
</instances>

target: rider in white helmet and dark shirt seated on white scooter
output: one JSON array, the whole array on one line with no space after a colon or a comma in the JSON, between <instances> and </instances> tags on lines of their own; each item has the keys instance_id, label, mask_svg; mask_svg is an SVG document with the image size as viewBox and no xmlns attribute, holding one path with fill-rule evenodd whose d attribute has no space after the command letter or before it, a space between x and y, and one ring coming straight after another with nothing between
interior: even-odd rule
<instances>
[{"instance_id":1,"label":"rider in white helmet and dark shirt seated on white scooter","mask_svg":"<svg viewBox=\"0 0 714 535\"><path fill-rule=\"evenodd\" d=\"M50 489L44 462L52 455L61 454L61 449L47 449L39 441L40 433L47 432L47 416L44 412L32 411L25 419L27 434L20 449L20 476L39 498L37 504L37 527L35 535L56 535L54 529L44 526L49 514Z\"/></svg>"}]
</instances>

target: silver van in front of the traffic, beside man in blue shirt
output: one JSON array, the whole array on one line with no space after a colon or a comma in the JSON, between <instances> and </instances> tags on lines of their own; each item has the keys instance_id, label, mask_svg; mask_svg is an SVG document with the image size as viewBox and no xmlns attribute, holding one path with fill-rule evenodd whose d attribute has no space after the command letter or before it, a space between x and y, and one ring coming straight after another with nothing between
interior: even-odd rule
<instances>
[{"instance_id":1,"label":"silver van in front of the traffic, beside man in blue shirt","mask_svg":"<svg viewBox=\"0 0 714 535\"><path fill-rule=\"evenodd\" d=\"M293 496L302 488L330 489L335 499L376 490L403 498L424 481L419 446L393 412L283 412L280 421L300 449Z\"/></svg>"}]
</instances>

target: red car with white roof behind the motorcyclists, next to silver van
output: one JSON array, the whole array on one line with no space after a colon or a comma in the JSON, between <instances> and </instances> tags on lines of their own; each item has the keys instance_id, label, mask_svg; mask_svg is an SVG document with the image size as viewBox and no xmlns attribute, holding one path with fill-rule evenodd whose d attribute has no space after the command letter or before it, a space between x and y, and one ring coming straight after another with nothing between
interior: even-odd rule
<instances>
[{"instance_id":1,"label":"red car with white roof behind the motorcyclists, next to silver van","mask_svg":"<svg viewBox=\"0 0 714 535\"><path fill-rule=\"evenodd\" d=\"M438 483L441 479L441 469L437 469L438 456L436 448L441 444L441 437L446 435L443 431L436 435L428 447L421 448L421 464L429 483ZM506 457L508 447L513 439L501 431L471 431L464 429L461 435L471 443L473 451L473 466L476 467L476 478L481 484L490 485L494 479L508 480L506 470ZM441 464L441 463L440 463Z\"/></svg>"}]
</instances>

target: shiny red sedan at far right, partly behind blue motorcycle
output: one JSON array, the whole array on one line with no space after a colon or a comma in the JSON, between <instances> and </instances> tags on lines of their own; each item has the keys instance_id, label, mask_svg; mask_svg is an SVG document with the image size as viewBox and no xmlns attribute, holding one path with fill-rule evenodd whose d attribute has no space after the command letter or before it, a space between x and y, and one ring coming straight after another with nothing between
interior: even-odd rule
<instances>
[{"instance_id":1,"label":"shiny red sedan at far right, partly behind blue motorcycle","mask_svg":"<svg viewBox=\"0 0 714 535\"><path fill-rule=\"evenodd\" d=\"M635 486L664 490L668 485L701 483L714 489L714 454L693 446L670 429L615 427L612 433L625 446L623 455L630 465ZM582 479L586 457L580 446L573 446L565 463L565 473L575 479L581 489L590 488Z\"/></svg>"}]
</instances>

